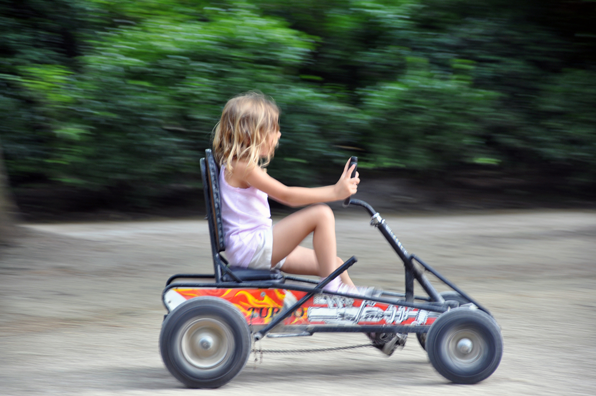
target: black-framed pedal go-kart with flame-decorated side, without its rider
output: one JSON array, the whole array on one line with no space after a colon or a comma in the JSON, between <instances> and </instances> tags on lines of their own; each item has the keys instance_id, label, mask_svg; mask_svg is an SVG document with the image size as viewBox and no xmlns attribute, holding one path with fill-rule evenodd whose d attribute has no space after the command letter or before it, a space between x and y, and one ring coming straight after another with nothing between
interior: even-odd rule
<instances>
[{"instance_id":1,"label":"black-framed pedal go-kart with flame-decorated side, without its rider","mask_svg":"<svg viewBox=\"0 0 596 396\"><path fill-rule=\"evenodd\" d=\"M219 169L211 150L201 159L213 274L176 274L162 293L167 309L160 333L163 362L191 388L217 388L246 366L252 343L265 336L285 338L321 332L366 333L390 354L415 333L434 369L455 383L488 378L501 362L501 330L491 313L455 284L408 253L368 203L361 206L405 267L405 293L381 291L370 297L334 293L323 287L356 262L352 256L322 281L279 271L232 267L225 250L220 213ZM346 206L346 205L344 205ZM451 287L439 293L424 271ZM414 280L427 296L414 295Z\"/></svg>"}]
</instances>

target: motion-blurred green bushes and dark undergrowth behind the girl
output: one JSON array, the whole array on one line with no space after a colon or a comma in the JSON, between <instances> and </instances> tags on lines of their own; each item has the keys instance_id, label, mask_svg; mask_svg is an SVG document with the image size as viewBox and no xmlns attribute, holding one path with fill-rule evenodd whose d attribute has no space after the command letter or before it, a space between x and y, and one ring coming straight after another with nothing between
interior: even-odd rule
<instances>
[{"instance_id":1,"label":"motion-blurred green bushes and dark undergrowth behind the girl","mask_svg":"<svg viewBox=\"0 0 596 396\"><path fill-rule=\"evenodd\" d=\"M384 185L584 205L595 21L588 0L1 0L4 193L24 218L192 206L222 107L259 89L286 183L357 155Z\"/></svg>"}]
</instances>

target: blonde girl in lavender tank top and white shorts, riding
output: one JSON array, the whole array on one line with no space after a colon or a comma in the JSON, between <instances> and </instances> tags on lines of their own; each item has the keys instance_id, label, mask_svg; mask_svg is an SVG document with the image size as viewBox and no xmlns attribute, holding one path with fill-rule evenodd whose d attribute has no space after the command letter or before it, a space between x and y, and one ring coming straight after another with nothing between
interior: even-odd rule
<instances>
[{"instance_id":1,"label":"blonde girl in lavender tank top and white shorts, riding","mask_svg":"<svg viewBox=\"0 0 596 396\"><path fill-rule=\"evenodd\" d=\"M219 185L226 257L232 265L327 277L342 264L337 257L335 218L320 202L343 200L356 193L355 165L344 166L335 185L287 187L264 167L273 157L281 132L280 110L260 92L247 92L226 103L215 126L213 154L221 166ZM272 227L267 197L288 206L308 206ZM299 243L313 233L313 248ZM347 272L325 289L371 295L372 287L356 287Z\"/></svg>"}]
</instances>

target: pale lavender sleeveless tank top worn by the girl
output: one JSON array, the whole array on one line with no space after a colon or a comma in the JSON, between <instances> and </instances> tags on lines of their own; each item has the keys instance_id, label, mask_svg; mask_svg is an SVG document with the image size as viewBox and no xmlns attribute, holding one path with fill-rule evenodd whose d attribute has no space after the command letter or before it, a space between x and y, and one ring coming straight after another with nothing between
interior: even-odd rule
<instances>
[{"instance_id":1,"label":"pale lavender sleeveless tank top worn by the girl","mask_svg":"<svg viewBox=\"0 0 596 396\"><path fill-rule=\"evenodd\" d=\"M225 166L219 171L221 214L225 255L230 265L248 267L254 252L271 228L267 194L255 187L232 187L225 180Z\"/></svg>"}]
</instances>

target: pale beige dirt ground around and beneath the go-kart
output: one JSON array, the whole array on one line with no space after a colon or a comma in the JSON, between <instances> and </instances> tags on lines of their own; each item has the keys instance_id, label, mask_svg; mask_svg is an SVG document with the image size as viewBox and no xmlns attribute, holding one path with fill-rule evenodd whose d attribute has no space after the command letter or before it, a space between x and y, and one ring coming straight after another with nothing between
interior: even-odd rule
<instances>
[{"instance_id":1,"label":"pale beige dirt ground around and beneath the go-kart","mask_svg":"<svg viewBox=\"0 0 596 396\"><path fill-rule=\"evenodd\" d=\"M355 282L402 291L403 266L368 216L338 212L339 254L359 259ZM411 336L389 358L369 348L251 355L228 385L185 388L158 338L167 277L212 271L207 222L189 219L26 225L0 256L0 394L594 395L596 211L386 219L406 249L491 309L505 351L490 378L449 383ZM316 334L260 347L365 341Z\"/></svg>"}]
</instances>

